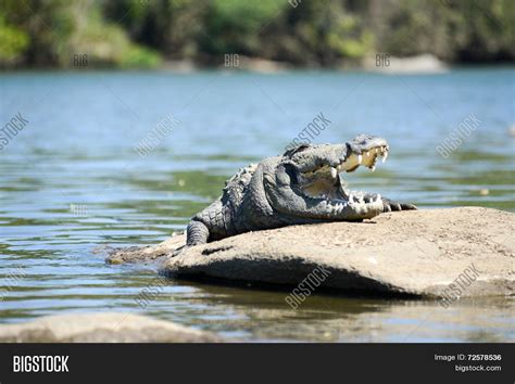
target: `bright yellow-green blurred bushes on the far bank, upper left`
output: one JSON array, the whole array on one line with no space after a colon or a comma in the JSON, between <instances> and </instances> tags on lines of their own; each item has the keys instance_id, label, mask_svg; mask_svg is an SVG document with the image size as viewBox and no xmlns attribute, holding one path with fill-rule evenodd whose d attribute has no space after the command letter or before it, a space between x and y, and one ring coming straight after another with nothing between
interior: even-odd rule
<instances>
[{"instance_id":1,"label":"bright yellow-green blurred bushes on the far bank, upper left","mask_svg":"<svg viewBox=\"0 0 515 384\"><path fill-rule=\"evenodd\" d=\"M75 55L84 54L95 66L160 64L158 52L104 20L97 0L2 0L0 21L2 66L72 67Z\"/></svg>"}]
</instances>

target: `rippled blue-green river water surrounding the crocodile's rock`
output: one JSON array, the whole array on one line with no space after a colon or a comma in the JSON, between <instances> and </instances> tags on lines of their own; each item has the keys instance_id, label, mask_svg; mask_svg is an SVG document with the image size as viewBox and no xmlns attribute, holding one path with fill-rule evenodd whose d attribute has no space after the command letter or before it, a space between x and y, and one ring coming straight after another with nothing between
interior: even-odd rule
<instances>
[{"instance_id":1,"label":"rippled blue-green river water surrounding the crocodile's rock","mask_svg":"<svg viewBox=\"0 0 515 384\"><path fill-rule=\"evenodd\" d=\"M353 189L419 207L515 212L513 68L385 76L296 72L1 74L1 125L28 125L0 152L0 322L134 311L248 341L514 341L513 299L436 302L312 295L172 281L148 307L150 267L109 266L99 245L154 244L183 230L239 167L280 153L319 113L316 142L386 138ZM168 114L180 123L146 157L135 146ZM441 144L481 123L447 158ZM483 190L483 191L481 191ZM488 190L488 193L487 191Z\"/></svg>"}]
</instances>

